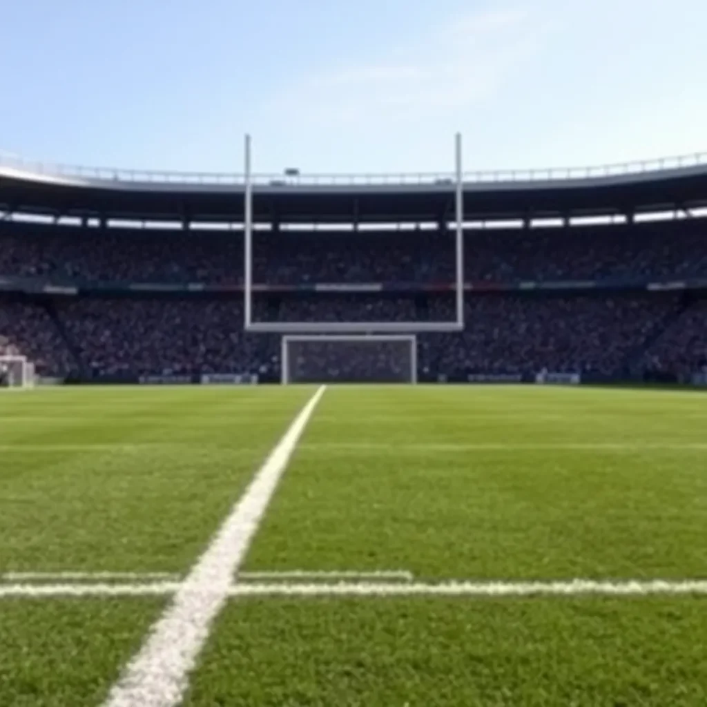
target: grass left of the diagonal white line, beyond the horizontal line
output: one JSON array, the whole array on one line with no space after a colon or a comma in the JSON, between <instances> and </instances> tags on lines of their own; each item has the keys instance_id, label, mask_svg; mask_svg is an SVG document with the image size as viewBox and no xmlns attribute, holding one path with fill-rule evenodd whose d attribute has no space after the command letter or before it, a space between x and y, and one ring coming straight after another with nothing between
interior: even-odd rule
<instances>
[{"instance_id":1,"label":"grass left of the diagonal white line, beyond the horizontal line","mask_svg":"<svg viewBox=\"0 0 707 707\"><path fill-rule=\"evenodd\" d=\"M0 572L186 570L309 395L0 397Z\"/></svg>"}]
</instances>

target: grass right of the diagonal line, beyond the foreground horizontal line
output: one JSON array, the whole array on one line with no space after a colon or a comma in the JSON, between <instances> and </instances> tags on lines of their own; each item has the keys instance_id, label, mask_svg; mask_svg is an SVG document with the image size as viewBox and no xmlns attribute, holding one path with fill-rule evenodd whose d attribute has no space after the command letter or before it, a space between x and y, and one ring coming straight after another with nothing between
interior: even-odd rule
<instances>
[{"instance_id":1,"label":"grass right of the diagonal line, beyond the foreground horizontal line","mask_svg":"<svg viewBox=\"0 0 707 707\"><path fill-rule=\"evenodd\" d=\"M705 423L689 393L334 390L247 567L701 577Z\"/></svg>"}]
</instances>

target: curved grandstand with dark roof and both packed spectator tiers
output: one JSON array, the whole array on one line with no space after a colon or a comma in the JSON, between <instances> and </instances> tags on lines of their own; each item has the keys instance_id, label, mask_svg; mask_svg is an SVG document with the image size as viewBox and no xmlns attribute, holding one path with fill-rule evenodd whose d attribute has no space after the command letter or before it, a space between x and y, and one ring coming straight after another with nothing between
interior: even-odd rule
<instances>
[{"instance_id":1,"label":"curved grandstand with dark roof and both packed spectator tiers","mask_svg":"<svg viewBox=\"0 0 707 707\"><path fill-rule=\"evenodd\" d=\"M257 187L253 319L452 321L452 197L444 180ZM465 183L465 328L419 334L417 380L699 377L706 204L701 167ZM281 337L243 329L243 187L0 171L0 211L0 355L71 380L288 378ZM320 349L366 378L351 347Z\"/></svg>"}]
</instances>

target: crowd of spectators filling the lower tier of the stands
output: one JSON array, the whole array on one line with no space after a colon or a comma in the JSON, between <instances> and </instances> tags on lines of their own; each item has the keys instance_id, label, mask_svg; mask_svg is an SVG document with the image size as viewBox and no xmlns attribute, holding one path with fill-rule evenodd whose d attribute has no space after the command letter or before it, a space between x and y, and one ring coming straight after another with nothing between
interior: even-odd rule
<instances>
[{"instance_id":1,"label":"crowd of spectators filling the lower tier of the stands","mask_svg":"<svg viewBox=\"0 0 707 707\"><path fill-rule=\"evenodd\" d=\"M418 334L419 376L533 375L542 368L619 375L645 363L648 356L684 373L707 354L707 303L697 301L683 308L679 296L660 293L469 297L463 332ZM283 298L279 305L271 303L269 312L257 312L257 318L423 321L451 320L453 312L448 296L368 302L359 302L356 296L310 296ZM305 349L306 361L300 360L303 354L292 358L290 366L300 368L291 372L311 378L318 368L329 370L332 377L341 371L351 377L359 375L356 366L371 375L382 375L388 366L393 378L408 375L407 354L399 354L399 346L376 346L380 350L373 355L371 349L356 349L351 358L351 344L321 344ZM280 337L245 333L242 305L233 299L0 302L2 353L28 356L43 375L81 370L96 376L255 373L279 378L281 366ZM390 363L394 354L395 366Z\"/></svg>"}]
</instances>

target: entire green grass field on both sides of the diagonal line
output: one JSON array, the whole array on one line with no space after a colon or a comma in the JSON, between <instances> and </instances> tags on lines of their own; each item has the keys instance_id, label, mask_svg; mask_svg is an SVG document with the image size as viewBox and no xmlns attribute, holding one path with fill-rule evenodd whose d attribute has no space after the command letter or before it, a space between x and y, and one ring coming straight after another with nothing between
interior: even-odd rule
<instances>
[{"instance_id":1,"label":"entire green grass field on both sides of the diagonal line","mask_svg":"<svg viewBox=\"0 0 707 707\"><path fill-rule=\"evenodd\" d=\"M315 390L0 393L1 707L105 703ZM329 387L260 520L188 707L707 705L705 395ZM644 584L488 590L572 580Z\"/></svg>"}]
</instances>

